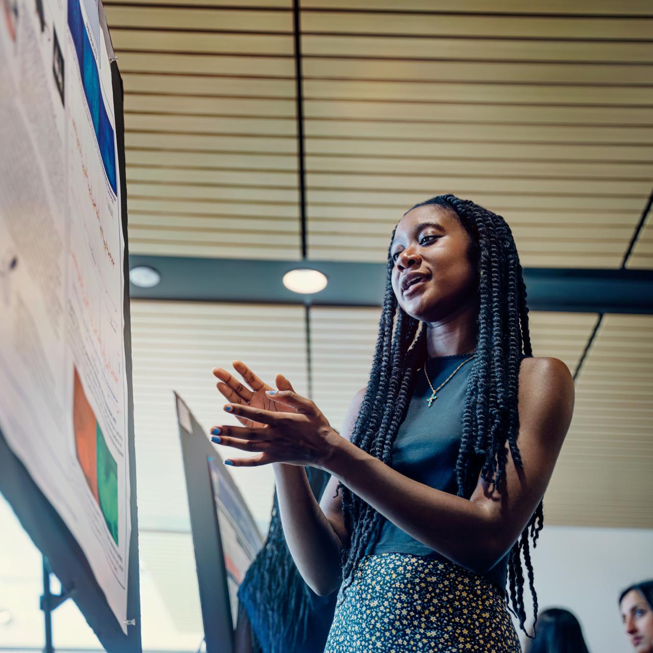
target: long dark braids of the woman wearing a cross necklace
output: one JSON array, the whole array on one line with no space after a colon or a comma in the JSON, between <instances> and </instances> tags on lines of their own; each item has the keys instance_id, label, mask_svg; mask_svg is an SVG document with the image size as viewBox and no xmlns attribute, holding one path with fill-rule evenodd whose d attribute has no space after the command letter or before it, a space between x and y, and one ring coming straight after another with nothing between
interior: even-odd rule
<instances>
[{"instance_id":1,"label":"long dark braids of the woman wearing a cross necklace","mask_svg":"<svg viewBox=\"0 0 653 653\"><path fill-rule=\"evenodd\" d=\"M470 372L456 462L458 496L469 498L481 477L496 488L505 477L510 452L517 468L519 420L517 390L522 355L531 357L526 285L517 247L505 220L470 200L439 195L411 208L432 204L456 216L470 236L469 256L479 271L476 355ZM394 238L394 232L392 234ZM387 281L370 381L358 412L351 441L385 464L392 463L392 445L406 415L413 378L426 358L426 327L398 306L392 289L394 261L388 251ZM343 592L353 581L358 563L370 545L379 513L342 483L342 511L349 545L342 550ZM530 543L543 526L540 502L508 557L507 602L524 632L524 569L537 622ZM342 600L342 596L341 596ZM535 624L534 624L535 626ZM528 634L528 633L527 633Z\"/></svg>"}]
</instances>

